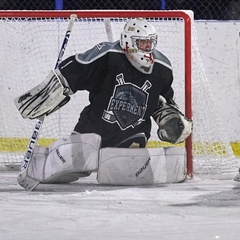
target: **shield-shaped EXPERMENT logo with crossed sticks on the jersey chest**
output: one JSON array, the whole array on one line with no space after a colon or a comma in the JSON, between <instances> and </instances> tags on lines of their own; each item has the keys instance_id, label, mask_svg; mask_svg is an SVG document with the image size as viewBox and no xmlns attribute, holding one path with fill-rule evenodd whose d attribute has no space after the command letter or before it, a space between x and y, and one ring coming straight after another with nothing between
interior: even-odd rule
<instances>
[{"instance_id":1,"label":"shield-shaped EXPERMENT logo with crossed sticks on the jersey chest","mask_svg":"<svg viewBox=\"0 0 240 240\"><path fill-rule=\"evenodd\" d=\"M144 121L147 109L148 92L152 84L146 80L141 88L125 83L123 74L116 76L118 85L115 86L107 110L102 118L109 123L117 123L122 130L134 128Z\"/></svg>"}]
</instances>

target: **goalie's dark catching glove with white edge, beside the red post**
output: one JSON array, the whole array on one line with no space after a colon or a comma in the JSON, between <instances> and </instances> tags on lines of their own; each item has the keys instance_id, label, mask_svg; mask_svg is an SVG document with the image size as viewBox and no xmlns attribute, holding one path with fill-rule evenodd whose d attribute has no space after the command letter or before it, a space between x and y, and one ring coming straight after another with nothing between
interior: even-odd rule
<instances>
[{"instance_id":1,"label":"goalie's dark catching glove with white edge, beside the red post","mask_svg":"<svg viewBox=\"0 0 240 240\"><path fill-rule=\"evenodd\" d=\"M174 104L167 103L162 96L159 105L153 114L158 124L158 137L161 141L178 144L184 142L192 132L192 120L187 119Z\"/></svg>"}]
</instances>

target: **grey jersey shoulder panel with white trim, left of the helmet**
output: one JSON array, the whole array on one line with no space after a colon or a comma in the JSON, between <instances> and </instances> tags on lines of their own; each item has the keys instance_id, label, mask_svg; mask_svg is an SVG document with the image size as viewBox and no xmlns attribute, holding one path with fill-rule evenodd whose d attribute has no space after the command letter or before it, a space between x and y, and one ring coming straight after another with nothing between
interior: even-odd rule
<instances>
[{"instance_id":1,"label":"grey jersey shoulder panel with white trim, left of the helmet","mask_svg":"<svg viewBox=\"0 0 240 240\"><path fill-rule=\"evenodd\" d=\"M119 41L116 42L101 42L84 53L76 54L76 60L80 63L91 63L108 53L124 53Z\"/></svg>"}]
</instances>

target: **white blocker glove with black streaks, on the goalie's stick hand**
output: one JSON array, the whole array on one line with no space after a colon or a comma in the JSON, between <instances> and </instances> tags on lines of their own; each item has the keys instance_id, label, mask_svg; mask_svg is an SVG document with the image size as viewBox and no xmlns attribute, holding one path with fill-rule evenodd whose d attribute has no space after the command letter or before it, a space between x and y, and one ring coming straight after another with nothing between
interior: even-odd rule
<instances>
[{"instance_id":1,"label":"white blocker glove with black streaks, on the goalie's stick hand","mask_svg":"<svg viewBox=\"0 0 240 240\"><path fill-rule=\"evenodd\" d=\"M51 71L46 80L15 98L14 103L23 118L39 118L49 115L65 105L71 90L66 80L57 70Z\"/></svg>"}]
</instances>

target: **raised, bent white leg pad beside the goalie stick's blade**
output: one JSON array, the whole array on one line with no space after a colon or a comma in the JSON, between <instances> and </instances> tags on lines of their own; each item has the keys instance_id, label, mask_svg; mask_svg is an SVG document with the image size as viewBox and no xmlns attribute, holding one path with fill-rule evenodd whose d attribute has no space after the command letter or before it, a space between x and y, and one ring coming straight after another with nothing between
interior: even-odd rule
<instances>
[{"instance_id":1,"label":"raised, bent white leg pad beside the goalie stick's blade","mask_svg":"<svg viewBox=\"0 0 240 240\"><path fill-rule=\"evenodd\" d=\"M45 183L75 181L84 172L97 170L100 144L99 135L78 133L57 140L49 149L36 147L28 174Z\"/></svg>"}]
</instances>

